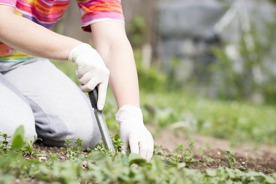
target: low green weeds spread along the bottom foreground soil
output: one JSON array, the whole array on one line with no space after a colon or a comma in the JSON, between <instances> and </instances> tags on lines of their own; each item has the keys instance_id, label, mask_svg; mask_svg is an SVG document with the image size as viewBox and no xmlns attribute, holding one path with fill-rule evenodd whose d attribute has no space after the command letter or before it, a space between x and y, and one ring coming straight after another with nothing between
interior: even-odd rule
<instances>
[{"instance_id":1,"label":"low green weeds spread along the bottom foreground soil","mask_svg":"<svg viewBox=\"0 0 276 184\"><path fill-rule=\"evenodd\" d=\"M183 144L179 144L176 154L168 154L163 159L154 156L151 162L147 163L145 159L137 154L119 154L122 141L120 141L119 136L112 137L112 140L114 148L117 150L116 156L109 154L103 143L99 144L97 148L90 149L88 154L83 155L80 154L83 150L80 147L82 146L80 139L67 140L65 142L66 147L63 150L66 149L74 159L63 160L63 162L60 162L57 156L53 154L49 154L49 159L46 162L39 162L37 158L22 159L23 154L18 151L20 149L10 147L5 154L0 154L0 183L11 183L15 179L22 181L34 179L35 181L64 184L276 183L275 173L271 174L272 177L268 177L263 173L249 170L243 172L239 169L224 167L219 167L216 170L206 170L206 173L186 168L186 163L191 163L194 142L190 142L187 148ZM2 142L3 145L9 146L8 142L5 143L7 144ZM76 145L72 146L73 143ZM2 147L0 149L3 150ZM155 155L162 155L163 153L158 149L160 147L155 146ZM72 152L78 153L78 156L73 155ZM228 151L226 155L233 158L234 152ZM166 160L170 160L170 162L166 162ZM168 165L168 163L172 165Z\"/></svg>"}]
</instances>

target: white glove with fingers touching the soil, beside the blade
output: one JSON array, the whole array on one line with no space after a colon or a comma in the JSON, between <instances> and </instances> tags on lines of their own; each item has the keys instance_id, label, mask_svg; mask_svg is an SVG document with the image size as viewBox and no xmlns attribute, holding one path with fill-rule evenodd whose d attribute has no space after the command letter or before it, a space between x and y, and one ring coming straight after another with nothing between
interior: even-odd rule
<instances>
[{"instance_id":1,"label":"white glove with fingers touching the soil, beside the blade","mask_svg":"<svg viewBox=\"0 0 276 184\"><path fill-rule=\"evenodd\" d=\"M153 139L151 133L143 123L140 108L124 105L116 114L116 121L120 125L120 139L124 142L123 153L130 147L131 153L140 154L147 162L153 154Z\"/></svg>"}]
</instances>

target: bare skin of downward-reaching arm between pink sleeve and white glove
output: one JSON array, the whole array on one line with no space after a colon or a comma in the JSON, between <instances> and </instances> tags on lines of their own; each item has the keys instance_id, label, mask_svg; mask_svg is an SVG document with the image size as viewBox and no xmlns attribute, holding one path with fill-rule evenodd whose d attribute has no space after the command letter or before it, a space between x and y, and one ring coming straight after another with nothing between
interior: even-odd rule
<instances>
[{"instance_id":1,"label":"bare skin of downward-reaching arm between pink sleeve and white glove","mask_svg":"<svg viewBox=\"0 0 276 184\"><path fill-rule=\"evenodd\" d=\"M125 26L119 21L103 21L91 25L96 50L110 71L109 86L117 101L140 107L137 72Z\"/></svg>"}]
</instances>

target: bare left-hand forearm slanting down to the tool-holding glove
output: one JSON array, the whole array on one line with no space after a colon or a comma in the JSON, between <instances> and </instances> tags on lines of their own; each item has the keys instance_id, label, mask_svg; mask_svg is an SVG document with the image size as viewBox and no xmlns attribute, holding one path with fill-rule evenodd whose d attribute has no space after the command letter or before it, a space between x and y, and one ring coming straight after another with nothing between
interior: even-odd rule
<instances>
[{"instance_id":1,"label":"bare left-hand forearm slanting down to the tool-holding glove","mask_svg":"<svg viewBox=\"0 0 276 184\"><path fill-rule=\"evenodd\" d=\"M0 25L0 41L33 56L67 60L70 51L81 43L16 15L12 6L0 5Z\"/></svg>"}]
</instances>

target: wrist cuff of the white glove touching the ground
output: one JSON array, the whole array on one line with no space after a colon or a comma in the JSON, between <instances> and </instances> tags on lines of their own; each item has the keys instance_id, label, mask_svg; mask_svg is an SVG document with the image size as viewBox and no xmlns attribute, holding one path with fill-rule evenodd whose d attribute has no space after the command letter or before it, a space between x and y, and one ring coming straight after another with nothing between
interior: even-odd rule
<instances>
[{"instance_id":1,"label":"wrist cuff of the white glove touching the ground","mask_svg":"<svg viewBox=\"0 0 276 184\"><path fill-rule=\"evenodd\" d=\"M121 125L122 122L144 125L142 110L138 107L135 107L134 105L122 106L116 113L115 119L119 125Z\"/></svg>"}]
</instances>

